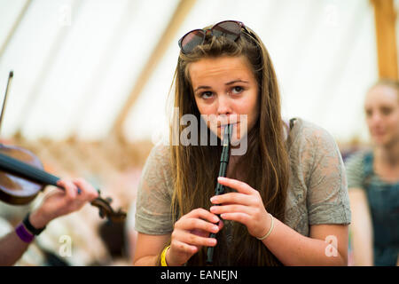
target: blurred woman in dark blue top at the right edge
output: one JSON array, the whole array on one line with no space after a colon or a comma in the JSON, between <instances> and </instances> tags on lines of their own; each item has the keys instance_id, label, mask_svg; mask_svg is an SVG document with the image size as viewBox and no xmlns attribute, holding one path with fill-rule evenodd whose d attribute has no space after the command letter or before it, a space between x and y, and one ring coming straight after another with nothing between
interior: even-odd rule
<instances>
[{"instance_id":1,"label":"blurred woman in dark blue top at the right edge","mask_svg":"<svg viewBox=\"0 0 399 284\"><path fill-rule=\"evenodd\" d=\"M368 91L364 111L374 147L348 158L355 265L399 264L399 82Z\"/></svg>"}]
</instances>

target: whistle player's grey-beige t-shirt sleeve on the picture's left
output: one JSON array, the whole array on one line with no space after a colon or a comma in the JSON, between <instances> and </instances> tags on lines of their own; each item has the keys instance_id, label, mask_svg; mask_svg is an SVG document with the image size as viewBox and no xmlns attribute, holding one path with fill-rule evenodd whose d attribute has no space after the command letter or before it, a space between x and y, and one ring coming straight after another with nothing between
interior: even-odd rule
<instances>
[{"instance_id":1,"label":"whistle player's grey-beige t-shirt sleeve on the picture's left","mask_svg":"<svg viewBox=\"0 0 399 284\"><path fill-rule=\"evenodd\" d=\"M139 233L166 234L173 231L172 184L168 148L155 146L145 162L137 190L135 228Z\"/></svg>"}]
</instances>

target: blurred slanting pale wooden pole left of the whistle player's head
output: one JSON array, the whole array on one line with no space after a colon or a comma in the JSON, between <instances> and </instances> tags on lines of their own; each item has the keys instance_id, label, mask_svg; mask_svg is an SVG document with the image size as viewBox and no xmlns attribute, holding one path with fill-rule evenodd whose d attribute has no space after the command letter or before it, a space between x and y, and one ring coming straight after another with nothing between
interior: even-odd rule
<instances>
[{"instance_id":1,"label":"blurred slanting pale wooden pole left of the whistle player's head","mask_svg":"<svg viewBox=\"0 0 399 284\"><path fill-rule=\"evenodd\" d=\"M150 79L153 71L160 63L160 59L162 59L165 52L168 50L169 44L172 39L175 37L178 28L180 28L183 23L185 17L191 11L194 6L196 0L180 0L180 3L176 7L176 11L174 12L172 18L170 19L168 26L165 28L163 36L160 37L160 41L155 46L153 54L148 59L143 71L138 76L137 81L130 92L129 98L127 102L124 104L121 109L121 113L116 118L116 121L113 124L113 134L116 135L118 139L123 140L123 122L125 122L126 117L129 114L131 107L135 104L138 96L141 91L143 91L145 84Z\"/></svg>"}]
</instances>

